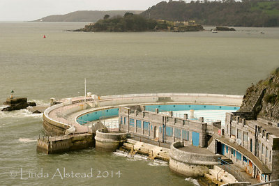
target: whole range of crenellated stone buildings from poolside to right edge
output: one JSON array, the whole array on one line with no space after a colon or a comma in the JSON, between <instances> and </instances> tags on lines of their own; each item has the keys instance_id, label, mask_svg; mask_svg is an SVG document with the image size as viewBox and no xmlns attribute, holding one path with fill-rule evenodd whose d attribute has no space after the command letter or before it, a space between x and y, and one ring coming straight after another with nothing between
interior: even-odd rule
<instances>
[{"instance_id":1,"label":"whole range of crenellated stone buildings from poolside to right edge","mask_svg":"<svg viewBox=\"0 0 279 186\"><path fill-rule=\"evenodd\" d=\"M181 141L186 146L208 147L223 155L260 182L279 179L279 124L253 118L252 113L227 113L225 127L198 120L160 114L145 107L119 108L119 129L165 143ZM219 131L219 132L218 132ZM171 158L170 158L171 160ZM200 167L199 167L200 169Z\"/></svg>"}]
</instances>

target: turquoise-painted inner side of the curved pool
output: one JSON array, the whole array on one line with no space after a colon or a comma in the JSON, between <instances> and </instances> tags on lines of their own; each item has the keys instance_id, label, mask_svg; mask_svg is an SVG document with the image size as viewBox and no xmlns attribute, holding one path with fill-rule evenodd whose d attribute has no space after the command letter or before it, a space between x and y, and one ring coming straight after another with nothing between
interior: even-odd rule
<instances>
[{"instance_id":1,"label":"turquoise-painted inner side of the curved pool","mask_svg":"<svg viewBox=\"0 0 279 186\"><path fill-rule=\"evenodd\" d=\"M189 111L193 109L195 111L204 110L225 110L225 111L237 111L239 107L231 107L231 106L220 106L220 105L202 105L202 104L156 104L156 105L146 105L146 111L155 111L155 109L159 109L162 111ZM114 109L104 109L100 111L93 111L88 114L84 114L77 118L77 123L80 125L84 125L90 121L96 121L100 118L108 118L112 116L118 116L119 108Z\"/></svg>"}]
</instances>

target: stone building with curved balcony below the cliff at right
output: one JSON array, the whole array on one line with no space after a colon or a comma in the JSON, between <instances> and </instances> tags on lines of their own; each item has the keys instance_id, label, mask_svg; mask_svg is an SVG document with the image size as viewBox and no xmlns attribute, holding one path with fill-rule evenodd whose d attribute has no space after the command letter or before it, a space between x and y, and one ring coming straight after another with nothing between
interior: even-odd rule
<instances>
[{"instance_id":1,"label":"stone building with curved balcony below the cliff at right","mask_svg":"<svg viewBox=\"0 0 279 186\"><path fill-rule=\"evenodd\" d=\"M226 114L222 136L209 148L228 157L260 182L279 179L279 124L249 112Z\"/></svg>"}]
</instances>

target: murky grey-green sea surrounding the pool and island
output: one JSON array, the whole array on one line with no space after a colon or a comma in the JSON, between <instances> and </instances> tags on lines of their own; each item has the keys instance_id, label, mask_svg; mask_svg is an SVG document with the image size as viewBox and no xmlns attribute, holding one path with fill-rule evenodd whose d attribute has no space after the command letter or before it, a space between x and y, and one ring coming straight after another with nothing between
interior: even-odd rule
<instances>
[{"instance_id":1,"label":"murky grey-green sea surrounding the pool and island","mask_svg":"<svg viewBox=\"0 0 279 186\"><path fill-rule=\"evenodd\" d=\"M84 78L87 90L99 95L244 95L251 83L279 66L279 28L218 33L65 31L84 24L0 22L0 101L12 90L38 104L82 95ZM37 153L39 134L41 114L0 111L0 185L196 184L169 171L167 163L140 155L94 148Z\"/></svg>"}]
</instances>

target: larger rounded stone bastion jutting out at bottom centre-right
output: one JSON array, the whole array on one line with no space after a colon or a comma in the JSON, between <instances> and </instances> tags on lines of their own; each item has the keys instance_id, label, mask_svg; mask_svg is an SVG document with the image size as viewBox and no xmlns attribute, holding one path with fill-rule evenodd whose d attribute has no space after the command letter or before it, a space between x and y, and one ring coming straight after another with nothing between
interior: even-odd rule
<instances>
[{"instance_id":1,"label":"larger rounded stone bastion jutting out at bottom centre-right","mask_svg":"<svg viewBox=\"0 0 279 186\"><path fill-rule=\"evenodd\" d=\"M218 164L218 158L221 157L179 150L183 146L181 141L177 141L170 146L169 150L169 169L183 176L192 178L204 176L204 173L209 173L209 169Z\"/></svg>"}]
</instances>

